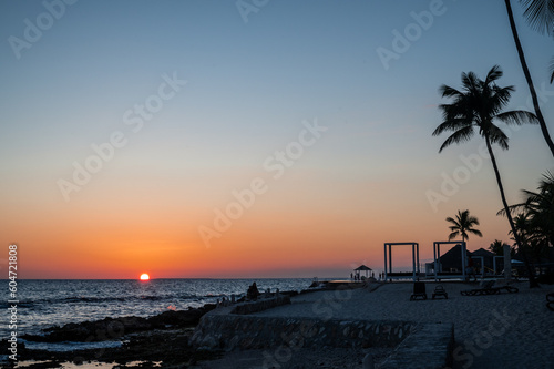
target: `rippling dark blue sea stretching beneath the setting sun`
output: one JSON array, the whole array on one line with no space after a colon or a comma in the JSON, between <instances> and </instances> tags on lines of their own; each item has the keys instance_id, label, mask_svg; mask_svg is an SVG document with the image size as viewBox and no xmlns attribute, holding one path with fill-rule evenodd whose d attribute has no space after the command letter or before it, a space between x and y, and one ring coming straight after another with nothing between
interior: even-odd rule
<instances>
[{"instance_id":1,"label":"rippling dark blue sea stretching beneath the setting sun","mask_svg":"<svg viewBox=\"0 0 554 369\"><path fill-rule=\"evenodd\" d=\"M270 288L301 290L309 278L285 279L151 279L141 280L18 280L17 334L40 335L42 329L68 322L106 317L151 317L168 309L184 310L216 303L230 295L244 296L254 281L260 291ZM6 290L8 290L8 280ZM9 297L3 299L4 322L0 337L8 338ZM0 306L1 306L0 305Z\"/></svg>"}]
</instances>

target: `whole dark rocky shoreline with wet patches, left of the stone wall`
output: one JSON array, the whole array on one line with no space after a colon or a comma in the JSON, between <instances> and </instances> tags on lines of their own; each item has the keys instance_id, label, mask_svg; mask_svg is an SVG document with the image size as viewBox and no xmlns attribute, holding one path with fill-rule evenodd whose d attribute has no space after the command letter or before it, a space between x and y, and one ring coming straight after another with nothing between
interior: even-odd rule
<instances>
[{"instance_id":1,"label":"whole dark rocky shoreline with wet patches, left of the stone wall","mask_svg":"<svg viewBox=\"0 0 554 369\"><path fill-rule=\"evenodd\" d=\"M35 361L25 368L61 368L64 362L116 362L114 368L126 368L130 362L140 361L140 368L160 367L187 368L198 360L219 357L216 351L193 348L189 339L204 314L216 308L207 304L199 308L165 311L150 318L122 317L96 321L68 324L44 330L44 335L25 335L28 342L107 342L117 341L117 347L103 347L70 351L29 349L24 342L18 348L19 361ZM6 340L2 345L7 345Z\"/></svg>"}]
</instances>

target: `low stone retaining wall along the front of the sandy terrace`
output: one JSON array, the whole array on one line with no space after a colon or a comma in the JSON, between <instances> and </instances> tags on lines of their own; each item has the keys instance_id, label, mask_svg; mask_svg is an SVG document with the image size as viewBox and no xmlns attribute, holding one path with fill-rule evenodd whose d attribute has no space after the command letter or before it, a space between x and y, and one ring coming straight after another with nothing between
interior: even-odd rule
<instances>
[{"instance_id":1,"label":"low stone retaining wall along the front of the sandy terrace","mask_svg":"<svg viewBox=\"0 0 554 369\"><path fill-rule=\"evenodd\" d=\"M416 327L404 321L349 321L205 315L192 344L204 349L396 347Z\"/></svg>"}]
</instances>

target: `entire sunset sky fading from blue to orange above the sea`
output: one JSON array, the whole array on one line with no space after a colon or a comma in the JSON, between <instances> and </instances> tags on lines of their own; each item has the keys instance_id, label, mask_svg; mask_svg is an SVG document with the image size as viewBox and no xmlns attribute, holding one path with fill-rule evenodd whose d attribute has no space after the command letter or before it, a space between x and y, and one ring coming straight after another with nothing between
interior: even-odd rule
<instances>
[{"instance_id":1,"label":"entire sunset sky fading from blue to orange above the sea","mask_svg":"<svg viewBox=\"0 0 554 369\"><path fill-rule=\"evenodd\" d=\"M6 274L16 243L20 278L346 277L386 242L429 260L466 208L469 249L509 242L481 139L431 136L462 72L500 64L532 109L504 1L73 2L0 2ZM554 134L553 40L512 3ZM515 203L553 158L510 134Z\"/></svg>"}]
</instances>

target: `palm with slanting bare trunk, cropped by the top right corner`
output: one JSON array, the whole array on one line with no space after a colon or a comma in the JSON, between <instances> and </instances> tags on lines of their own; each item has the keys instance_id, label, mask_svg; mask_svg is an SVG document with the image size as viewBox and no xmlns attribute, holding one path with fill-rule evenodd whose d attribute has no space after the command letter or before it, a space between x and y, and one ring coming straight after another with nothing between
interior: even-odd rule
<instances>
[{"instance_id":1,"label":"palm with slanting bare trunk, cropped by the top right corner","mask_svg":"<svg viewBox=\"0 0 554 369\"><path fill-rule=\"evenodd\" d=\"M545 7L541 7L541 4L538 4L538 3L544 3L544 2L552 3L552 1L551 0L523 0L523 1L524 1L524 3L527 4L527 9L525 10L525 14L529 17L530 22L532 22L532 24L541 24L541 25L536 25L536 27L538 27L540 29L543 29L544 25L542 25L542 24L544 24L545 21L546 22L548 21L547 16L545 16L548 12L541 10L541 9L548 10L550 4L546 6L546 8L545 8ZM512 29L512 35L514 38L515 48L517 49L517 55L520 57L520 62L521 62L521 66L523 69L523 74L525 74L525 80L527 81L529 91L531 93L531 99L533 100L533 107L535 109L536 117L538 119L538 124L541 125L541 131L543 133L544 140L546 141L546 144L548 145L548 147L552 152L552 155L554 156L554 142L552 142L552 137L548 133L548 129L546 127L546 122L544 121L544 116L543 116L543 113L541 111L541 106L538 105L538 98L536 95L533 80L531 79L531 73L530 73L529 68L527 68L527 62L525 61L525 54L524 54L523 48L521 45L520 35L517 34L517 28L515 27L514 14L512 12L512 6L510 4L510 0L504 0L504 2L506 4L507 18L510 19L510 28ZM551 9L551 11L553 11L553 10ZM546 23L546 24L547 24L547 28L550 28L551 32L552 32L552 19L551 19L551 22ZM554 78L554 74L553 74L553 78ZM551 79L551 82L552 82L552 79Z\"/></svg>"}]
</instances>

